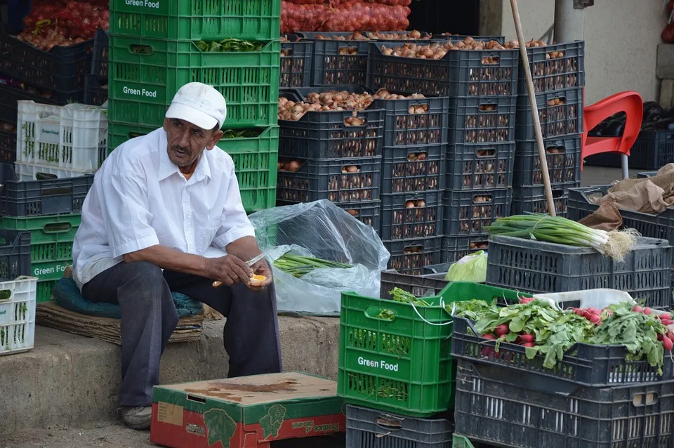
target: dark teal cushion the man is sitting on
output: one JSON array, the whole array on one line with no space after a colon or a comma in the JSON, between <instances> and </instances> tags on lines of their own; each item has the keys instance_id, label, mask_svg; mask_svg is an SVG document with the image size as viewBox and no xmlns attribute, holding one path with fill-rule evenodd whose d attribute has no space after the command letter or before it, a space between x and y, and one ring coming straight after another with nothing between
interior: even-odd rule
<instances>
[{"instance_id":1,"label":"dark teal cushion the man is sitting on","mask_svg":"<svg viewBox=\"0 0 674 448\"><path fill-rule=\"evenodd\" d=\"M77 284L72 278L62 278L54 286L54 301L66 310L80 314L119 319L119 305L116 303L95 303L86 300L79 292ZM176 304L178 317L196 316L201 312L203 305L185 294L171 293L173 303Z\"/></svg>"}]
</instances>

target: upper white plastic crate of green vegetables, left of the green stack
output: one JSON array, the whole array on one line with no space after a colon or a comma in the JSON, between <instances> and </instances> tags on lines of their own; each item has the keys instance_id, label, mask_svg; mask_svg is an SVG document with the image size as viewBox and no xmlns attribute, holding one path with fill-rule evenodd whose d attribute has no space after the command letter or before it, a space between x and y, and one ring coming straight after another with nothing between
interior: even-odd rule
<instances>
[{"instance_id":1,"label":"upper white plastic crate of green vegetables, left of the green stack","mask_svg":"<svg viewBox=\"0 0 674 448\"><path fill-rule=\"evenodd\" d=\"M18 101L16 161L76 171L96 170L107 154L107 110Z\"/></svg>"}]
</instances>

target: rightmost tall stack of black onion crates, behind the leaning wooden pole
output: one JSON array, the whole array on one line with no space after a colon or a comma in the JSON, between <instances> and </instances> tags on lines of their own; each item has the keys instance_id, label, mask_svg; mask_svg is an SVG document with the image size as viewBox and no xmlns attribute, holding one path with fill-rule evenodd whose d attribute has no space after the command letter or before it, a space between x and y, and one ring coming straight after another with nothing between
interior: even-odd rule
<instances>
[{"instance_id":1,"label":"rightmost tall stack of black onion crates, behind the leaning wooden pole","mask_svg":"<svg viewBox=\"0 0 674 448\"><path fill-rule=\"evenodd\" d=\"M584 42L527 48L555 212L566 216L569 188L580 186L583 132ZM543 171L520 60L513 177L513 214L548 212Z\"/></svg>"}]
</instances>

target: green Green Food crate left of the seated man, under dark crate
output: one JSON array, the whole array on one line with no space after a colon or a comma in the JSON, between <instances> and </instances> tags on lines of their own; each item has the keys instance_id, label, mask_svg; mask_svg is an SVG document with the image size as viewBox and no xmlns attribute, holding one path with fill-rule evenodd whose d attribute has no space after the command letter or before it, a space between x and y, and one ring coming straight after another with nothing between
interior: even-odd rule
<instances>
[{"instance_id":1,"label":"green Green Food crate left of the seated man, under dark crate","mask_svg":"<svg viewBox=\"0 0 674 448\"><path fill-rule=\"evenodd\" d=\"M72 242L81 223L80 213L0 218L0 228L30 232L31 275L37 277L37 303L48 301L56 280L72 265Z\"/></svg>"}]
</instances>

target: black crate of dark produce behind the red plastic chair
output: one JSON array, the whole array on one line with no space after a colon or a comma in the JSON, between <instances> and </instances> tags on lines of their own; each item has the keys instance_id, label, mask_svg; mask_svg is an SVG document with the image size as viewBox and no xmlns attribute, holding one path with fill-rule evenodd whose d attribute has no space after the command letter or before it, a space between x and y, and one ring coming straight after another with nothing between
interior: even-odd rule
<instances>
[{"instance_id":1,"label":"black crate of dark produce behind the red plastic chair","mask_svg":"<svg viewBox=\"0 0 674 448\"><path fill-rule=\"evenodd\" d=\"M674 162L674 131L641 131L628 159L630 168L659 170ZM621 154L602 152L586 157L587 165L622 166Z\"/></svg>"}]
</instances>

